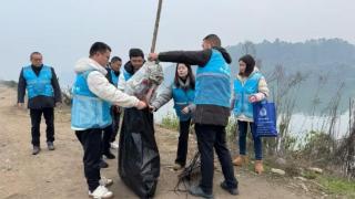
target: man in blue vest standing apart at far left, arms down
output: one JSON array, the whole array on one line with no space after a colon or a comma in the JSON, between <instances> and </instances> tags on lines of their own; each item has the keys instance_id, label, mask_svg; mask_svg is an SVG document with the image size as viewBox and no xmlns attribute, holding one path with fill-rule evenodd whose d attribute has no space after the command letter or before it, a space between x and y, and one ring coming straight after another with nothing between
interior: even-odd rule
<instances>
[{"instance_id":1,"label":"man in blue vest standing apart at far left, arms down","mask_svg":"<svg viewBox=\"0 0 355 199\"><path fill-rule=\"evenodd\" d=\"M18 106L23 107L28 95L28 108L31 116L32 155L40 153L40 124L42 114L47 124L47 146L54 150L54 107L62 102L61 91L54 69L43 64L42 54L32 52L31 65L21 70L18 85Z\"/></svg>"}]
</instances>

